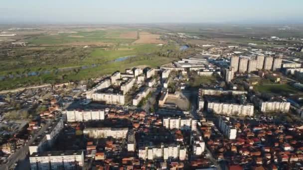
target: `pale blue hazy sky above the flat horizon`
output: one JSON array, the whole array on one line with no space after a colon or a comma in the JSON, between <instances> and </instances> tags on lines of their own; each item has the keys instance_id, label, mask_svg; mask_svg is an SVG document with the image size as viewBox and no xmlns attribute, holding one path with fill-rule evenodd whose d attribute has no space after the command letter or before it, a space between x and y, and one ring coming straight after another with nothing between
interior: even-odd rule
<instances>
[{"instance_id":1,"label":"pale blue hazy sky above the flat horizon","mask_svg":"<svg viewBox=\"0 0 303 170\"><path fill-rule=\"evenodd\" d=\"M1 0L1 23L303 23L303 0Z\"/></svg>"}]
</instances>

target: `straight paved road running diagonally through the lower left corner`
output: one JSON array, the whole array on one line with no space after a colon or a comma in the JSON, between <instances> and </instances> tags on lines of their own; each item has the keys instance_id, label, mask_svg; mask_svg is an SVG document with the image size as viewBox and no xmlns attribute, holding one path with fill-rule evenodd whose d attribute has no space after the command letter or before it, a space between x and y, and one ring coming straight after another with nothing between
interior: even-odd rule
<instances>
[{"instance_id":1,"label":"straight paved road running diagonally through the lower left corner","mask_svg":"<svg viewBox=\"0 0 303 170\"><path fill-rule=\"evenodd\" d=\"M37 134L35 134L28 142L21 148L19 148L15 153L10 155L8 161L5 165L0 166L0 170L10 170L14 168L14 164L19 160L24 160L28 154L28 147L31 145L34 140L41 135L50 125L52 121L48 121L45 126L43 126Z\"/></svg>"}]
</instances>

